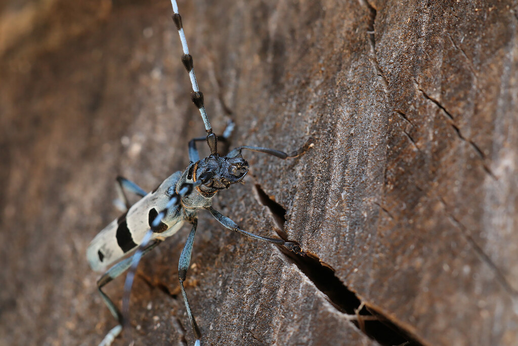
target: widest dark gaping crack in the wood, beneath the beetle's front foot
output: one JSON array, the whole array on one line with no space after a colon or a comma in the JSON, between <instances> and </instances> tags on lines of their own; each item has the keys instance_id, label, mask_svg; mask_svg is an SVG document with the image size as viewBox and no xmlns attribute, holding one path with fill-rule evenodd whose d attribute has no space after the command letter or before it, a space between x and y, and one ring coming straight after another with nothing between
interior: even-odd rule
<instances>
[{"instance_id":1,"label":"widest dark gaping crack in the wood, beneath the beetle's front foot","mask_svg":"<svg viewBox=\"0 0 518 346\"><path fill-rule=\"evenodd\" d=\"M279 230L277 230L279 237L287 241L287 234L284 231L286 210L274 199L268 197L260 185L256 184L255 190L258 200L268 207L276 220L276 224L279 226ZM393 323L388 316L367 308L366 304L338 279L334 269L322 262L316 255L307 254L303 256L288 251L283 246L278 246L278 248L288 260L293 262L311 280L316 288L327 296L330 303L345 314L346 318L366 336L382 345L422 344L416 341L416 338L409 331Z\"/></svg>"}]
</instances>

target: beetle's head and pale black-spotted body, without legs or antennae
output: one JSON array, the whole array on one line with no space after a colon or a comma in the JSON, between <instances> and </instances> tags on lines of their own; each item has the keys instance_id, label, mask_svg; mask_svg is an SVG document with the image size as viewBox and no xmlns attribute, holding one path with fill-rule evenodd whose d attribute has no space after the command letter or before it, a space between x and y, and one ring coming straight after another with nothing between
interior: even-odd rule
<instances>
[{"instance_id":1,"label":"beetle's head and pale black-spotted body, without legs or antennae","mask_svg":"<svg viewBox=\"0 0 518 346\"><path fill-rule=\"evenodd\" d=\"M148 229L152 228L158 211L166 209L167 203L175 193L179 193L182 186L192 186L198 181L198 177L207 172L213 175L210 181L196 186L181 198L179 204L171 206L159 226L154 229L151 240L172 236L185 221L191 222L196 218L196 210L209 208L216 192L244 178L248 173L248 163L241 155L233 158L211 155L191 163L183 174L180 171L173 173L97 234L87 251L90 267L95 271L103 271L135 250ZM124 178L118 178L118 181L124 188L123 184L131 184ZM123 198L125 199L124 195Z\"/></svg>"}]
</instances>

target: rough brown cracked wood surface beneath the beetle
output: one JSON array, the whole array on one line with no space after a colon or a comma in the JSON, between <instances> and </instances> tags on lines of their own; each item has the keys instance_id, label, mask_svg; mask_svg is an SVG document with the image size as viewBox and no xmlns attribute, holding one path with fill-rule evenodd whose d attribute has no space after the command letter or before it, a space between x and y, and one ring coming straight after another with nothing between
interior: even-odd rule
<instances>
[{"instance_id":1,"label":"rough brown cracked wood surface beneath the beetle","mask_svg":"<svg viewBox=\"0 0 518 346\"><path fill-rule=\"evenodd\" d=\"M292 160L247 155L247 185L215 201L311 257L200 213L187 289L206 344L399 342L350 321L361 302L416 344L516 344L517 2L179 5L215 130L233 118L234 145L314 139ZM170 4L0 11L0 344L95 344L114 321L84 254L118 216L114 177L151 190L203 134ZM142 261L117 345L193 344L187 232Z\"/></svg>"}]
</instances>

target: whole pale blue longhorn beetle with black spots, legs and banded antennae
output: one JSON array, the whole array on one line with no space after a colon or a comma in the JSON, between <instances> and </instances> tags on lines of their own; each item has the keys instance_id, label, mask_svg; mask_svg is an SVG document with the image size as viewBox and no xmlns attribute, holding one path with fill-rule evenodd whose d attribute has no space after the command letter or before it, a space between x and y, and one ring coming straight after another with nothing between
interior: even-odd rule
<instances>
[{"instance_id":1,"label":"whole pale blue longhorn beetle with black spots, legs and banded antennae","mask_svg":"<svg viewBox=\"0 0 518 346\"><path fill-rule=\"evenodd\" d=\"M176 0L171 0L171 3L174 12L172 20L178 29L182 43L182 63L189 72L191 79L193 89L191 99L202 116L207 137L198 137L191 140L189 142L189 159L191 161L189 167L183 172L173 173L150 193L146 193L135 183L123 177L117 178L119 196L125 203L126 212L100 231L90 243L87 251L88 261L95 271L105 270L108 265L119 261L97 281L100 295L111 314L119 322L116 327L108 332L99 346L110 345L121 333L123 326L128 324L127 316L131 286L140 258L159 245L165 238L175 234L185 222L192 224L192 230L180 255L178 276L185 308L196 337L196 345L200 345L202 335L194 319L185 288L183 287L191 261L191 251L197 226L197 212L200 209L208 210L219 223L228 229L251 238L283 246L289 251L304 255L296 242L257 236L244 231L233 220L212 208L212 198L218 191L228 189L231 185L241 182L244 176L247 175L249 165L241 156L241 150L258 151L280 159L296 157L303 151L299 150L298 153L289 156L283 151L275 149L244 145L231 150L226 156L218 154L218 139L226 141L232 132L234 124L232 122L229 123L220 137L212 133L212 128L205 112L203 94L199 91L196 82L193 59L187 47L182 19L178 13L178 5ZM196 142L204 140L206 140L209 146L210 155L200 160L198 150L196 149ZM134 205L130 205L125 190L140 196L141 199ZM133 256L122 259L133 251L135 251ZM103 292L103 287L127 269L130 270L126 275L124 284L121 313L111 299Z\"/></svg>"}]
</instances>

